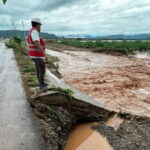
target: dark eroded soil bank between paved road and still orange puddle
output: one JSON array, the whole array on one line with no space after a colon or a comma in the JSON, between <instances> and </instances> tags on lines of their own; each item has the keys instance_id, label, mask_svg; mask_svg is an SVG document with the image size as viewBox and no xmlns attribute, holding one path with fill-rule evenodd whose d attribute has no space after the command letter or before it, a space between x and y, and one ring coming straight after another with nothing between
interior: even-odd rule
<instances>
[{"instance_id":1,"label":"dark eroded soil bank between paved road and still orange puddle","mask_svg":"<svg viewBox=\"0 0 150 150\"><path fill-rule=\"evenodd\" d=\"M62 99L63 101L63 99ZM33 111L40 119L41 130L48 144L48 150L64 150L69 133L77 124L87 121L107 121L114 113L89 104L51 104L49 101L35 100ZM50 107L51 111L47 108ZM71 144L71 143L70 143Z\"/></svg>"}]
</instances>

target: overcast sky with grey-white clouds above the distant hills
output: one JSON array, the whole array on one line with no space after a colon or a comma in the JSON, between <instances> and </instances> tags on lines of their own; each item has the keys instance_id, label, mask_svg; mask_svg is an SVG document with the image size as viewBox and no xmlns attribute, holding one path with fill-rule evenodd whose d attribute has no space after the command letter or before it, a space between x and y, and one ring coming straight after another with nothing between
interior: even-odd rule
<instances>
[{"instance_id":1,"label":"overcast sky with grey-white clouds above the distant hills","mask_svg":"<svg viewBox=\"0 0 150 150\"><path fill-rule=\"evenodd\" d=\"M34 17L56 35L150 33L150 0L0 0L0 30L12 29L12 18L29 30Z\"/></svg>"}]
</instances>

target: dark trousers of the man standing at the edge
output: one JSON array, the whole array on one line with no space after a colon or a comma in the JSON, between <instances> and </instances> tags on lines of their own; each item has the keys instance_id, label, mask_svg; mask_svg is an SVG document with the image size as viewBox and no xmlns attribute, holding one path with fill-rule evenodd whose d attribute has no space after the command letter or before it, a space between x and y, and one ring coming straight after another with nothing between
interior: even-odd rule
<instances>
[{"instance_id":1,"label":"dark trousers of the man standing at the edge","mask_svg":"<svg viewBox=\"0 0 150 150\"><path fill-rule=\"evenodd\" d=\"M45 62L44 59L32 58L36 66L37 78L39 81L39 86L44 86L44 75L45 75Z\"/></svg>"}]
</instances>

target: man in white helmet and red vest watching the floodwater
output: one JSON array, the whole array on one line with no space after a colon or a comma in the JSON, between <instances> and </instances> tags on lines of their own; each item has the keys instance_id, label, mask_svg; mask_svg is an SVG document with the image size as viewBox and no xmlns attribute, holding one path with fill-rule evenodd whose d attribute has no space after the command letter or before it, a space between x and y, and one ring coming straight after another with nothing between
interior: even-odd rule
<instances>
[{"instance_id":1,"label":"man in white helmet and red vest watching the floodwater","mask_svg":"<svg viewBox=\"0 0 150 150\"><path fill-rule=\"evenodd\" d=\"M32 28L28 35L29 55L32 58L36 66L37 78L39 81L40 89L47 89L47 84L44 82L45 75L45 61L47 57L45 54L45 42L40 36L41 21L38 18L34 18L31 21Z\"/></svg>"}]
</instances>

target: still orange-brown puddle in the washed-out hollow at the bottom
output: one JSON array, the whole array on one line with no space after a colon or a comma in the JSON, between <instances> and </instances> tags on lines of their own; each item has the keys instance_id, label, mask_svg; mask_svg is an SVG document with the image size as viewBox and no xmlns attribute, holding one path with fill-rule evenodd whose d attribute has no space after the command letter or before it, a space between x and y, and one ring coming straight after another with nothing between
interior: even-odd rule
<instances>
[{"instance_id":1,"label":"still orange-brown puddle in the washed-out hollow at the bottom","mask_svg":"<svg viewBox=\"0 0 150 150\"><path fill-rule=\"evenodd\" d=\"M70 134L65 150L113 150L105 138L91 129L94 124L79 125Z\"/></svg>"}]
</instances>

